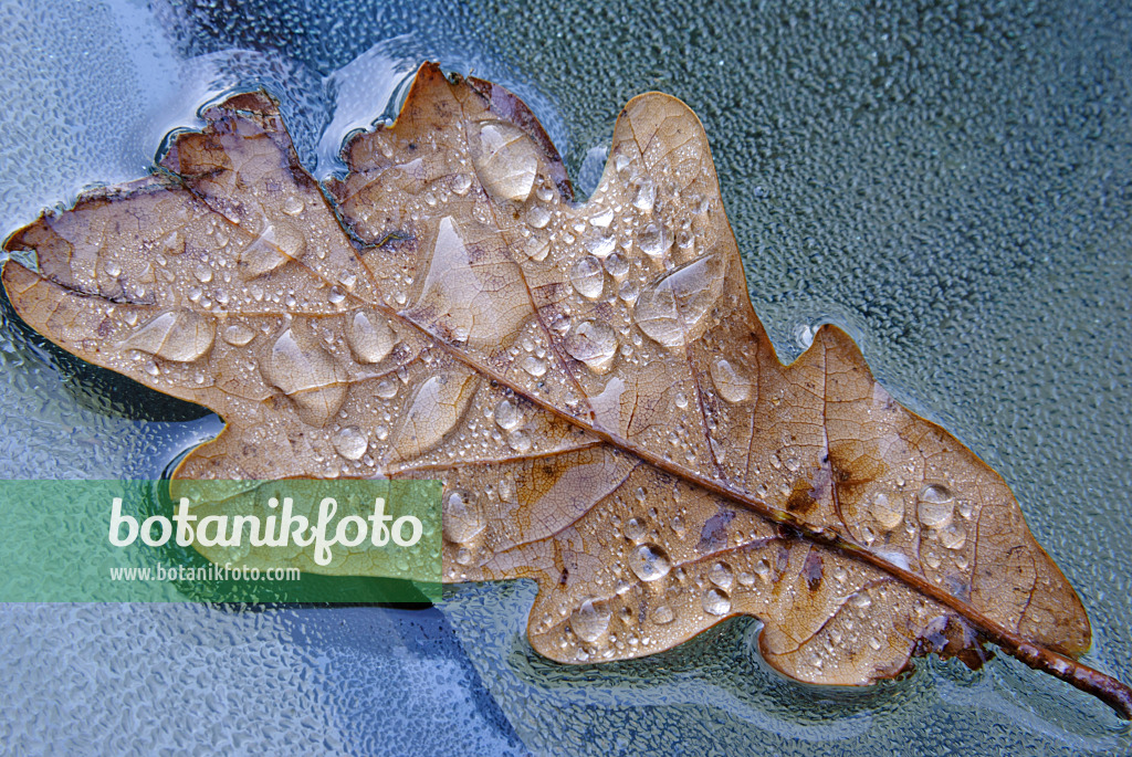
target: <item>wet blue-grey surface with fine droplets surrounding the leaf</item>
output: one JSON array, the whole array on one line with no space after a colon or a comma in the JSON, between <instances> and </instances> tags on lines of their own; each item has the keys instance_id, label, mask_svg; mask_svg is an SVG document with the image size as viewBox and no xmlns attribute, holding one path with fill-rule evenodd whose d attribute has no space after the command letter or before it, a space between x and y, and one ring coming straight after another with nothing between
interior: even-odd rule
<instances>
[{"instance_id":1,"label":"wet blue-grey surface with fine droplets surrounding the leaf","mask_svg":"<svg viewBox=\"0 0 1132 757\"><path fill-rule=\"evenodd\" d=\"M1132 483L1132 83L1121 74L1132 70L1132 10L417 6L3 5L3 234L94 182L144 175L170 130L199 126L199 106L237 89L280 98L305 164L325 179L343 169L343 139L395 115L417 66L440 60L518 94L581 197L597 186L619 109L667 92L704 123L780 356L800 353L820 324L849 330L900 402L1005 478L1086 604L1086 662L1132 679L1132 526L1121 517ZM592 273L576 272L583 294ZM205 411L51 347L7 306L2 318L5 478L158 476L218 431ZM652 657L563 666L528 644L532 600L532 584L512 583L454 587L420 611L7 605L0 745L1132 749L1105 705L1003 655L974 673L921 661L897 682L820 690L771 671L747 620Z\"/></svg>"}]
</instances>

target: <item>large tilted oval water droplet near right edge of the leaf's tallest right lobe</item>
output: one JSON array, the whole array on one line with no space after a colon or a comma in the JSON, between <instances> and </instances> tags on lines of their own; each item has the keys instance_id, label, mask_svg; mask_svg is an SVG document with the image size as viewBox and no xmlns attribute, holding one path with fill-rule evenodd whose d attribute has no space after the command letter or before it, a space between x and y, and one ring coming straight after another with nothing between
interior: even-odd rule
<instances>
[{"instance_id":1,"label":"large tilted oval water droplet near right edge of the leaf's tallest right lobe","mask_svg":"<svg viewBox=\"0 0 1132 757\"><path fill-rule=\"evenodd\" d=\"M707 255L672 270L641 293L633 315L650 338L667 347L700 337L704 316L723 291L723 264Z\"/></svg>"}]
</instances>

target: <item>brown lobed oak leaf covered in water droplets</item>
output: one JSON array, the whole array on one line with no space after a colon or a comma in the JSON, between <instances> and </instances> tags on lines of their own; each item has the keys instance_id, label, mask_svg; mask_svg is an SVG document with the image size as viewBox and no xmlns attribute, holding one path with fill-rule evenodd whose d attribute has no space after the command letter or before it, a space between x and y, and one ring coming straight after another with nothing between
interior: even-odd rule
<instances>
[{"instance_id":1,"label":"brown lobed oak leaf covered in water droplets","mask_svg":"<svg viewBox=\"0 0 1132 757\"><path fill-rule=\"evenodd\" d=\"M994 471L843 332L779 363L679 101L626 106L584 204L517 98L431 64L333 201L265 95L205 118L3 272L36 330L225 420L178 476L441 479L446 580L535 579L561 662L751 614L800 681L989 640L1132 712L1074 661L1084 610Z\"/></svg>"}]
</instances>

